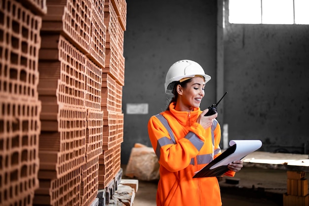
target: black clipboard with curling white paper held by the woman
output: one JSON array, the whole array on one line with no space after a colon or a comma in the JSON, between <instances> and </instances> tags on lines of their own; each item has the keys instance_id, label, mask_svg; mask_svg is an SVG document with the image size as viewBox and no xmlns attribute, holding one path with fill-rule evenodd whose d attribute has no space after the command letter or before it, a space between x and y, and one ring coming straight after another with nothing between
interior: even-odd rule
<instances>
[{"instance_id":1,"label":"black clipboard with curling white paper held by the woman","mask_svg":"<svg viewBox=\"0 0 309 206\"><path fill-rule=\"evenodd\" d=\"M229 171L230 163L241 160L261 147L261 140L231 140L230 147L208 165L195 172L193 178L222 176Z\"/></svg>"}]
</instances>

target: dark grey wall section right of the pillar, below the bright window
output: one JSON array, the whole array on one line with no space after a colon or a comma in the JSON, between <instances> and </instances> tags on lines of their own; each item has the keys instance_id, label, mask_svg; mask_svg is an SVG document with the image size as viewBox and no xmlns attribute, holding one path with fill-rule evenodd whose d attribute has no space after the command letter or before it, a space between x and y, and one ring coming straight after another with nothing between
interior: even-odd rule
<instances>
[{"instance_id":1,"label":"dark grey wall section right of the pillar, below the bright window","mask_svg":"<svg viewBox=\"0 0 309 206\"><path fill-rule=\"evenodd\" d=\"M308 154L309 25L227 24L224 46L229 137Z\"/></svg>"}]
</instances>

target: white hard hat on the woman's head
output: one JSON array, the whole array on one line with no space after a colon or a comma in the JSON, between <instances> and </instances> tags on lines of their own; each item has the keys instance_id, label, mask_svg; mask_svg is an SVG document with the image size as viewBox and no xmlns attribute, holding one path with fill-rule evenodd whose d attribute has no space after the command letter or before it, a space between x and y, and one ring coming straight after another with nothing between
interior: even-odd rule
<instances>
[{"instance_id":1,"label":"white hard hat on the woman's head","mask_svg":"<svg viewBox=\"0 0 309 206\"><path fill-rule=\"evenodd\" d=\"M165 93L173 94L175 82L184 78L193 78L194 76L204 77L207 83L211 77L206 75L203 68L192 60L180 60L175 62L167 71L165 78Z\"/></svg>"}]
</instances>

